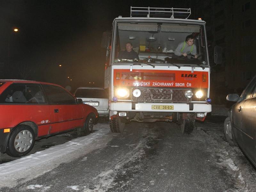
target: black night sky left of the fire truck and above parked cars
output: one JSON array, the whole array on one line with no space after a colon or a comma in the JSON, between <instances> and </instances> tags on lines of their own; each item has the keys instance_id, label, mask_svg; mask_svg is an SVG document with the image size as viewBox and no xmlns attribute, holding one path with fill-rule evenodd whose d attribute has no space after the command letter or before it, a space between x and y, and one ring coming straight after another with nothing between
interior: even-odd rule
<instances>
[{"instance_id":1,"label":"black night sky left of the fire truck and above parked cars","mask_svg":"<svg viewBox=\"0 0 256 192\"><path fill-rule=\"evenodd\" d=\"M23 77L71 85L72 91L89 82L103 87L105 49L100 42L114 18L129 17L131 6L177 7L175 2L1 1L0 79Z\"/></svg>"}]
</instances>

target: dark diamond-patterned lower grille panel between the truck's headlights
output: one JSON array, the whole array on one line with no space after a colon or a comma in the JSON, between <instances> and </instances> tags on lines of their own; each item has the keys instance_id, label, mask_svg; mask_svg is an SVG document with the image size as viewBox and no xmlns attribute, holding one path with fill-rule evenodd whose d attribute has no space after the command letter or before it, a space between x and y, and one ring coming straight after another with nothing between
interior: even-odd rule
<instances>
[{"instance_id":1,"label":"dark diamond-patterned lower grille panel between the truck's headlights","mask_svg":"<svg viewBox=\"0 0 256 192\"><path fill-rule=\"evenodd\" d=\"M159 88L132 88L139 89L141 91L140 97L134 97L134 101L145 101L145 102L187 102L191 99L185 97L185 91L191 89L159 89Z\"/></svg>"}]
</instances>

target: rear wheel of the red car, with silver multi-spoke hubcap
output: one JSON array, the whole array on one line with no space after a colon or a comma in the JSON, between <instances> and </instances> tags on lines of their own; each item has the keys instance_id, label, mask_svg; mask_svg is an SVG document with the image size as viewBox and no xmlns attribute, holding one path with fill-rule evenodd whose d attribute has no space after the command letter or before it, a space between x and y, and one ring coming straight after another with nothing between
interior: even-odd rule
<instances>
[{"instance_id":1,"label":"rear wheel of the red car, with silver multi-spoke hubcap","mask_svg":"<svg viewBox=\"0 0 256 192\"><path fill-rule=\"evenodd\" d=\"M34 143L35 133L33 129L28 125L17 125L12 130L6 153L13 157L27 155L33 148Z\"/></svg>"}]
</instances>

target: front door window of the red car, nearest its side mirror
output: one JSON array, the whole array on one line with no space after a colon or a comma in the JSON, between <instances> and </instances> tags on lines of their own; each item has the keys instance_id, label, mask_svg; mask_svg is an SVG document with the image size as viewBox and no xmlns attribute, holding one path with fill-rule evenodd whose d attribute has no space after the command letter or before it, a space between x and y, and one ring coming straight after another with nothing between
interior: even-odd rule
<instances>
[{"instance_id":1,"label":"front door window of the red car, nearest its side mirror","mask_svg":"<svg viewBox=\"0 0 256 192\"><path fill-rule=\"evenodd\" d=\"M76 99L64 88L42 84L49 104L76 104Z\"/></svg>"}]
</instances>

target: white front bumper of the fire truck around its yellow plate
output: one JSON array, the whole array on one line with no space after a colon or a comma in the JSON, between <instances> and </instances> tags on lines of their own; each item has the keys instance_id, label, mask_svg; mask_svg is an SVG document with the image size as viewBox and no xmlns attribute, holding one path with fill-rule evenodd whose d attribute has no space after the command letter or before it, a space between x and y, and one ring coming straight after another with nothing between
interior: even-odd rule
<instances>
[{"instance_id":1,"label":"white front bumper of the fire truck around its yellow plate","mask_svg":"<svg viewBox=\"0 0 256 192\"><path fill-rule=\"evenodd\" d=\"M152 109L152 105L172 105L173 110ZM193 110L191 110L193 108ZM110 103L111 111L147 111L147 112L199 112L209 113L212 111L212 105L206 103L134 103L132 102L116 102Z\"/></svg>"}]
</instances>

